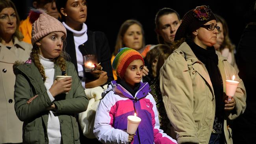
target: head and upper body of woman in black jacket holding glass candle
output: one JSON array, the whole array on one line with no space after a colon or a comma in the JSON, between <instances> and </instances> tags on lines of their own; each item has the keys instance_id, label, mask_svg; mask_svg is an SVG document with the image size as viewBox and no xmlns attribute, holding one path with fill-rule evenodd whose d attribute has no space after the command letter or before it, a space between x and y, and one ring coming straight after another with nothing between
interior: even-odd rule
<instances>
[{"instance_id":1,"label":"head and upper body of woman in black jacket holding glass candle","mask_svg":"<svg viewBox=\"0 0 256 144\"><path fill-rule=\"evenodd\" d=\"M84 23L87 19L86 0L56 0L56 6L67 29L66 52L76 67L83 87L93 88L109 83L113 74L108 40L104 33L87 29ZM100 65L97 70L85 73L83 56L89 54L96 55Z\"/></svg>"}]
</instances>

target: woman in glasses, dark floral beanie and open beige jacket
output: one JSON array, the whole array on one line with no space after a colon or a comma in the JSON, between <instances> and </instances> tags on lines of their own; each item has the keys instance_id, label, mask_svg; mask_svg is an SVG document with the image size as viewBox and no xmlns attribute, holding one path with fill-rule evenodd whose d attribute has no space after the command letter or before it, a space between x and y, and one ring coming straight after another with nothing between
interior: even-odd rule
<instances>
[{"instance_id":1,"label":"woman in glasses, dark floral beanie and open beige jacket","mask_svg":"<svg viewBox=\"0 0 256 144\"><path fill-rule=\"evenodd\" d=\"M228 61L216 52L220 27L208 6L188 11L160 70L160 89L169 120L182 143L231 143L229 127L245 111L245 87ZM228 101L226 79L239 81Z\"/></svg>"}]
</instances>

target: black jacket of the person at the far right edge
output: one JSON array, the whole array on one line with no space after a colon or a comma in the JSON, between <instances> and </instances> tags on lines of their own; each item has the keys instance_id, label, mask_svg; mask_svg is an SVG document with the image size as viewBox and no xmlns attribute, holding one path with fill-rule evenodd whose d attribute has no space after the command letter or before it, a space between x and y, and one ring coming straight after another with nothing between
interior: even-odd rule
<instances>
[{"instance_id":1,"label":"black jacket of the person at the far right edge","mask_svg":"<svg viewBox=\"0 0 256 144\"><path fill-rule=\"evenodd\" d=\"M255 143L256 135L256 24L249 24L243 34L237 50L237 66L239 68L239 77L243 79L246 89L246 109L233 124L233 142L234 144L252 144ZM250 131L249 129L253 129Z\"/></svg>"}]
</instances>

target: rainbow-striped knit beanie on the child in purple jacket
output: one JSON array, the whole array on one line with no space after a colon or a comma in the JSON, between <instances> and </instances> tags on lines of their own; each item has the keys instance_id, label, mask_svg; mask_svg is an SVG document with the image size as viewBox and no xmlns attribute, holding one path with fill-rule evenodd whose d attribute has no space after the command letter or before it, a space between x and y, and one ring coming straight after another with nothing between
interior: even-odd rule
<instances>
[{"instance_id":1,"label":"rainbow-striped knit beanie on the child in purple jacket","mask_svg":"<svg viewBox=\"0 0 256 144\"><path fill-rule=\"evenodd\" d=\"M112 63L112 67L117 72L117 76L119 76L122 79L126 72L126 68L135 59L140 59L141 61L143 61L143 65L144 65L143 57L139 52L137 52L132 48L121 48L118 51Z\"/></svg>"}]
</instances>

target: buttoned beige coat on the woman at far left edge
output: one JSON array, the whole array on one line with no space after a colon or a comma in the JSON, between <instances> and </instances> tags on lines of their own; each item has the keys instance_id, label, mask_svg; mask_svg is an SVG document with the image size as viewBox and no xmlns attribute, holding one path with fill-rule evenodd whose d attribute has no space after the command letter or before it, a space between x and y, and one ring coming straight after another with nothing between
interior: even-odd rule
<instances>
[{"instance_id":1,"label":"buttoned beige coat on the woman at far left edge","mask_svg":"<svg viewBox=\"0 0 256 144\"><path fill-rule=\"evenodd\" d=\"M22 122L14 111L13 63L28 60L31 48L17 38L10 50L0 43L0 144L22 142Z\"/></svg>"}]
</instances>

